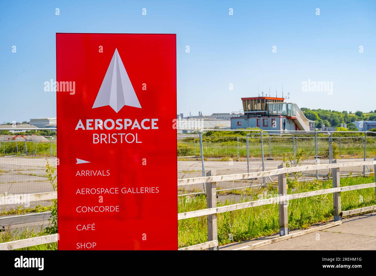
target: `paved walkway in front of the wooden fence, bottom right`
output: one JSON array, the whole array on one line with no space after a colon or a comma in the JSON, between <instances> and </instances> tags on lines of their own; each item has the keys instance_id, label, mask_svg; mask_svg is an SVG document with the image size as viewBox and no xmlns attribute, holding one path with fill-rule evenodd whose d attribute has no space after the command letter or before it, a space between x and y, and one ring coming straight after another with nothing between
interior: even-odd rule
<instances>
[{"instance_id":1,"label":"paved walkway in front of the wooden fence, bottom right","mask_svg":"<svg viewBox=\"0 0 376 276\"><path fill-rule=\"evenodd\" d=\"M290 231L290 234L298 231L301 230ZM276 234L257 240L227 244L220 246L220 250L232 250L278 236ZM376 213L349 217L343 219L341 225L253 250L376 250Z\"/></svg>"}]
</instances>

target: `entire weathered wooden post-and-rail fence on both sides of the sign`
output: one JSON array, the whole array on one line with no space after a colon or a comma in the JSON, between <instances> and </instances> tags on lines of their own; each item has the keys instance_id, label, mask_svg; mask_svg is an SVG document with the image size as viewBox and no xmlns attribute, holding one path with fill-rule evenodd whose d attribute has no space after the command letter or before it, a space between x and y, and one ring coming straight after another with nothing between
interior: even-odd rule
<instances>
[{"instance_id":1,"label":"entire weathered wooden post-and-rail fence on both sides of the sign","mask_svg":"<svg viewBox=\"0 0 376 276\"><path fill-rule=\"evenodd\" d=\"M185 213L177 214L177 219L188 219L192 217L207 216L208 218L208 241L205 243L195 244L193 246L183 247L179 250L218 250L218 224L217 224L217 214L241 210L245 208L252 208L256 206L262 206L267 204L279 204L279 237L262 240L260 242L243 246L235 250L250 250L258 248L267 244L275 243L277 241L287 240L289 238L298 237L300 235L309 234L315 231L320 231L329 227L333 227L342 223L342 217L352 214L358 214L362 212L376 210L376 205L362 207L358 209L341 211L341 192L367 189L375 187L375 199L376 199L376 183L359 184L352 186L340 186L340 168L342 167L354 167L354 166L374 166L374 172L376 171L376 158L374 161L356 161L356 162L346 162L346 163L331 163L331 164L317 164L299 167L286 167L284 164L280 165L278 169L267 170L262 172L251 172L251 173L238 173L232 175L215 175L215 171L209 171L206 176L195 177L195 178L184 178L178 179L177 186L187 186L192 184L206 184L206 195L207 195L207 208L202 210L190 211ZM287 173L301 172L308 170L320 170L320 169L332 169L332 182L333 187L330 189L315 190L304 193L287 194ZM267 176L278 176L278 193L280 196L267 199L259 199L256 201L241 202L237 204L224 205L217 207L217 187L216 182L220 181L234 181L241 179L250 178L262 178ZM326 225L321 225L308 230L303 230L289 234L288 231L288 216L287 216L287 203L289 200L298 198L308 198L310 196L333 194L333 209L334 209L334 222L328 223ZM24 201L40 201L40 200L50 200L56 199L57 192L47 192L47 193L35 193L27 195L17 195L17 196L6 196L0 197L0 206L5 205L6 202L18 199ZM28 246L35 246L39 244L52 243L58 241L58 234L44 235L40 237L27 238L23 240L9 241L6 243L0 243L0 250L12 250L19 249Z\"/></svg>"}]
</instances>

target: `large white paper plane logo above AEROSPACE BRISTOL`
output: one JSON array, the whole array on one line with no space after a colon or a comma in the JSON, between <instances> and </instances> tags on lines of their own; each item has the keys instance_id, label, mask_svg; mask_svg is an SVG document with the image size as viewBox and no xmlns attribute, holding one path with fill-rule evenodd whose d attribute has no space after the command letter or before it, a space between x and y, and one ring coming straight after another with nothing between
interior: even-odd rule
<instances>
[{"instance_id":1,"label":"large white paper plane logo above AEROSPACE BRISTOL","mask_svg":"<svg viewBox=\"0 0 376 276\"><path fill-rule=\"evenodd\" d=\"M102 106L110 106L116 113L123 106L141 108L117 49L112 56L92 108Z\"/></svg>"}]
</instances>

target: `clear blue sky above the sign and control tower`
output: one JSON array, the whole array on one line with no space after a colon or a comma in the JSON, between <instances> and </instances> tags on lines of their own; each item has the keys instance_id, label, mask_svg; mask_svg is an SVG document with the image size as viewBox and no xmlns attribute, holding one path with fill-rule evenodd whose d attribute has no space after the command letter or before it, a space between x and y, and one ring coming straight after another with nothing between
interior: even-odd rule
<instances>
[{"instance_id":1,"label":"clear blue sky above the sign and control tower","mask_svg":"<svg viewBox=\"0 0 376 276\"><path fill-rule=\"evenodd\" d=\"M280 96L282 84L300 107L376 109L376 1L260 2L1 1L0 122L56 116L55 93L44 92L56 32L176 33L184 115L237 111L258 86ZM302 92L308 79L333 81L333 94Z\"/></svg>"}]
</instances>

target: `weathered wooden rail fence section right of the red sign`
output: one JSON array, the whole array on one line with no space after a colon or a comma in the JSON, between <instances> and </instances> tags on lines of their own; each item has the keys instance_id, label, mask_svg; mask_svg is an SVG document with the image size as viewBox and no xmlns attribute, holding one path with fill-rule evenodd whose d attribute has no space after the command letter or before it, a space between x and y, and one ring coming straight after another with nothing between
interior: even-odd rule
<instances>
[{"instance_id":1,"label":"weathered wooden rail fence section right of the red sign","mask_svg":"<svg viewBox=\"0 0 376 276\"><path fill-rule=\"evenodd\" d=\"M251 246L245 246L244 248L241 247L236 250L250 250L250 249L258 248L260 246L264 246L264 245L274 243L277 241L286 240L287 238L297 237L299 235L308 234L314 231L320 231L321 229L333 227L342 223L343 216L376 210L376 205L373 205L373 206L368 206L368 207L341 212L341 192L375 187L375 198L376 198L376 182L345 186L345 187L341 187L340 185L340 168L352 167L352 166L365 166L365 165L374 165L374 171L376 171L376 158L374 159L374 161L357 161L357 162L347 162L347 163L337 163L337 160L334 160L334 163L332 164L309 165L309 166L299 166L299 167L285 167L282 164L276 170L268 170L264 172L238 173L238 174L232 174L232 175L212 175L214 173L209 172L204 177L179 179L177 181L178 186L199 184L199 183L206 182L206 191L210 193L210 199L212 201L212 198L214 197L213 195L214 192L212 189L213 187L215 187L213 182L233 181L233 180L248 179L248 178L261 178L265 176L277 175L278 176L278 193L280 196L267 198L267 199L260 199L256 201L241 202L241 203L231 204L231 205L226 205L226 206L221 206L221 207L215 207L215 205L211 203L210 205L209 204L207 205L208 208L206 209L179 213L177 214L177 219L181 220L181 219L188 219L192 217L208 216L208 243L209 243L210 241L218 240L218 236L214 235L217 233L216 230L214 231L213 229L210 228L211 231L209 232L209 217L215 217L215 219L217 219L217 214L223 213L223 212L241 210L245 208L262 206L262 205L267 205L267 204L279 204L279 235L280 237L274 238L268 241L261 241ZM306 170L319 170L319 169L333 169L333 172L332 172L333 188L304 192L304 193L296 193L296 194L290 194L290 195L287 194L287 181L286 181L287 173L301 172L301 171L306 171ZM289 234L288 233L289 231L288 231L288 217L287 217L287 202L291 199L308 198L310 196L325 195L329 193L333 193L334 223L329 223L327 225L308 229L306 231L300 231L298 233ZM209 196L208 196L208 199L209 199ZM215 225L216 223L217 221L215 221ZM198 247L197 246L198 245L184 247L185 248L184 250L196 250L196 249L202 250L203 249L202 244L200 244L200 246ZM214 247L214 249L218 249L218 246Z\"/></svg>"}]
</instances>

